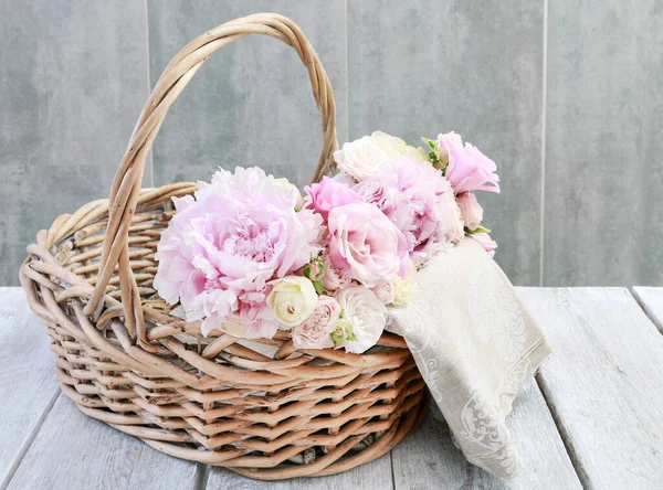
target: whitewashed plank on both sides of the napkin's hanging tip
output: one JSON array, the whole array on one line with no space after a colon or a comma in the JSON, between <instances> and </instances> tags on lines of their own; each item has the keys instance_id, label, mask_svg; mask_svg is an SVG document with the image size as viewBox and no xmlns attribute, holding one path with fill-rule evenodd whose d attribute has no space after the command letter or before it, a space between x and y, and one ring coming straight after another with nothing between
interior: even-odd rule
<instances>
[{"instance_id":1,"label":"whitewashed plank on both sides of the napkin's hanging tip","mask_svg":"<svg viewBox=\"0 0 663 490\"><path fill-rule=\"evenodd\" d=\"M432 404L423 426L391 451L394 488L581 488L534 377L515 400L508 422L520 456L520 469L513 481L499 480L470 465L453 446L449 427Z\"/></svg>"}]
</instances>

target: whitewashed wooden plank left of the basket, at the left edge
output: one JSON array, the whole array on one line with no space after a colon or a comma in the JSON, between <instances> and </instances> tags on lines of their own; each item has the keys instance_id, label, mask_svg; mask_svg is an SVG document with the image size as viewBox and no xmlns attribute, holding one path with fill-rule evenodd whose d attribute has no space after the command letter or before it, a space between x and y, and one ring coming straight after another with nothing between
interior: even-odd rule
<instances>
[{"instance_id":1,"label":"whitewashed wooden plank left of the basket, at the left edge","mask_svg":"<svg viewBox=\"0 0 663 490\"><path fill-rule=\"evenodd\" d=\"M13 475L57 396L41 319L21 288L0 288L0 489Z\"/></svg>"}]
</instances>

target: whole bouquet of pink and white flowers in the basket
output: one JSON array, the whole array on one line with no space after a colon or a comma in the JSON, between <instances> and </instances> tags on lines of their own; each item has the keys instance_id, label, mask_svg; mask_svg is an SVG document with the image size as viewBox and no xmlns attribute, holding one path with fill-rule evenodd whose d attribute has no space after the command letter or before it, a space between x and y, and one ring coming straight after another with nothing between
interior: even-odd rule
<instances>
[{"instance_id":1,"label":"whole bouquet of pink and white flowers in the basket","mask_svg":"<svg viewBox=\"0 0 663 490\"><path fill-rule=\"evenodd\" d=\"M347 142L304 196L260 168L219 170L173 198L155 288L204 335L288 330L297 349L365 352L431 254L465 235L497 246L474 194L499 192L495 163L454 132L422 139L429 151L381 131Z\"/></svg>"}]
</instances>

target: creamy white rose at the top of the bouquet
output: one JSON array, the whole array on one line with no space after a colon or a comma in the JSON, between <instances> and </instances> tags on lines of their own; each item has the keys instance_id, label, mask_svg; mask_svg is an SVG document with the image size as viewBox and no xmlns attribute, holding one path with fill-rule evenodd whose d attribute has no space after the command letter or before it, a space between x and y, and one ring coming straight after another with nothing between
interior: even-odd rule
<instances>
[{"instance_id":1,"label":"creamy white rose at the top of the bouquet","mask_svg":"<svg viewBox=\"0 0 663 490\"><path fill-rule=\"evenodd\" d=\"M343 145L340 150L334 152L334 160L341 172L358 181L371 177L378 167L400 155L411 155L425 161L425 151L407 145L396 136L382 131L375 131L355 141Z\"/></svg>"}]
</instances>

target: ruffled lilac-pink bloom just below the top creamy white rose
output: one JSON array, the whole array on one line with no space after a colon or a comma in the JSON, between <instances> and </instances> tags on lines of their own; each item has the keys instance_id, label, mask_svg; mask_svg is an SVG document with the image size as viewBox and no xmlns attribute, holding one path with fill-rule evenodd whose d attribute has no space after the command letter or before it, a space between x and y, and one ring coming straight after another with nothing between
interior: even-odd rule
<instances>
[{"instance_id":1,"label":"ruffled lilac-pink bloom just below the top creamy white rose","mask_svg":"<svg viewBox=\"0 0 663 490\"><path fill-rule=\"evenodd\" d=\"M453 190L429 162L397 158L355 189L403 233L409 252L421 253L434 243L455 242L463 236Z\"/></svg>"}]
</instances>

